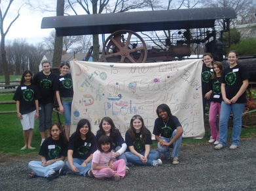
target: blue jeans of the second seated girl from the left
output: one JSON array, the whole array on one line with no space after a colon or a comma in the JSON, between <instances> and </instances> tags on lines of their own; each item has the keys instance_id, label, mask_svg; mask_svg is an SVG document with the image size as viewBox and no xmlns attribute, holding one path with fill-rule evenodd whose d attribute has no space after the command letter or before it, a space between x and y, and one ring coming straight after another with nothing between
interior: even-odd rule
<instances>
[{"instance_id":1,"label":"blue jeans of the second seated girl from the left","mask_svg":"<svg viewBox=\"0 0 256 191\"><path fill-rule=\"evenodd\" d=\"M77 175L84 175L84 177L88 177L86 174L89 169L92 168L92 160L86 164L86 166L81 166L82 162L84 162L84 159L81 158L73 158L73 166L75 166L78 170L79 173L74 173L69 165L69 162L67 161L65 164L67 168L69 169L69 172Z\"/></svg>"}]
</instances>

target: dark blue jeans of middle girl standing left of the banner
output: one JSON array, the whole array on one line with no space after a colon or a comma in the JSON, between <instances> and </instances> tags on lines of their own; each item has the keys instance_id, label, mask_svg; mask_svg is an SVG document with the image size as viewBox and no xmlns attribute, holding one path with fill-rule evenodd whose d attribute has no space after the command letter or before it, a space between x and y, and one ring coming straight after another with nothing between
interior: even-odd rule
<instances>
[{"instance_id":1,"label":"dark blue jeans of middle girl standing left of the banner","mask_svg":"<svg viewBox=\"0 0 256 191\"><path fill-rule=\"evenodd\" d=\"M53 103L39 104L39 131L45 132L46 129L50 129L50 126L52 126L52 109Z\"/></svg>"}]
</instances>

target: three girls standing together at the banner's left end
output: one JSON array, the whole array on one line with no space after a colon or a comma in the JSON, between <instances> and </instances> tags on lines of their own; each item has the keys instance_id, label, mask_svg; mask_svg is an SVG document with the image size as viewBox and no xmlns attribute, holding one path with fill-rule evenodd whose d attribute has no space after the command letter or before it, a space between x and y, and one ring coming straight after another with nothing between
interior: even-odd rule
<instances>
[{"instance_id":1,"label":"three girls standing together at the banner's left end","mask_svg":"<svg viewBox=\"0 0 256 191\"><path fill-rule=\"evenodd\" d=\"M38 130L41 134L41 144L45 141L45 132L50 137L52 125L52 109L54 97L60 106L60 112L65 117L65 133L69 139L69 127L71 124L71 103L73 99L73 84L69 72L69 63L60 65L60 75L56 76L50 68L50 61L42 61L43 71L38 72L32 79L30 70L22 74L20 86L18 86L13 100L16 101L18 119L23 128L25 145L21 148L35 149L31 147L35 119L39 119Z\"/></svg>"}]
</instances>

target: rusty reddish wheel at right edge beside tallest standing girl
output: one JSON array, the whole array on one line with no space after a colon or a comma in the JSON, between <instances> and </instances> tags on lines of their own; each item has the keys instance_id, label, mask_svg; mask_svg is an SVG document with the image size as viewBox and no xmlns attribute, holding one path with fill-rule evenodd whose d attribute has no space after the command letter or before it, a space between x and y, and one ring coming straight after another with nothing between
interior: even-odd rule
<instances>
[{"instance_id":1,"label":"rusty reddish wheel at right edge beside tallest standing girl","mask_svg":"<svg viewBox=\"0 0 256 191\"><path fill-rule=\"evenodd\" d=\"M256 82L249 81L246 89L247 103L242 115L242 126L256 125Z\"/></svg>"}]
</instances>

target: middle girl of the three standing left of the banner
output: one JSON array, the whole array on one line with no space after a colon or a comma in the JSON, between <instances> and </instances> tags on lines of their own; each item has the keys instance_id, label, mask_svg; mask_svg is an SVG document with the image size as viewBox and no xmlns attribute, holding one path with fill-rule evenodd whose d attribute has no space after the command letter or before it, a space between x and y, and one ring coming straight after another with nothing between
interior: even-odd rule
<instances>
[{"instance_id":1,"label":"middle girl of the three standing left of the banner","mask_svg":"<svg viewBox=\"0 0 256 191\"><path fill-rule=\"evenodd\" d=\"M52 125L52 109L54 104L53 84L56 76L50 71L50 61L42 61L42 72L35 74L33 84L35 84L42 98L39 99L39 126L38 130L41 134L41 145L45 141L45 131L47 137L50 137L50 126Z\"/></svg>"}]
</instances>

